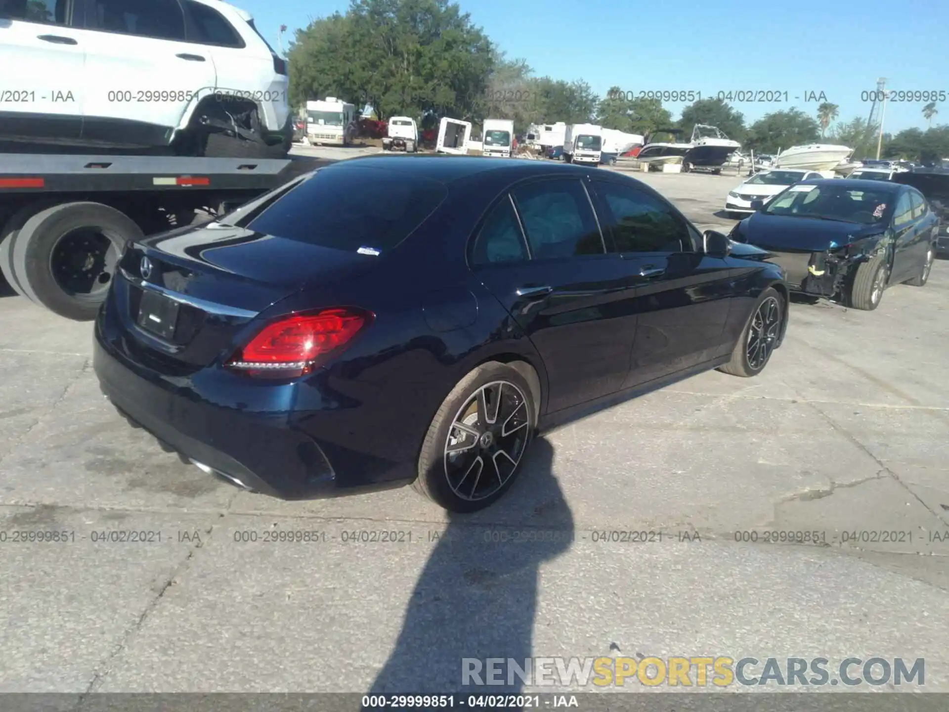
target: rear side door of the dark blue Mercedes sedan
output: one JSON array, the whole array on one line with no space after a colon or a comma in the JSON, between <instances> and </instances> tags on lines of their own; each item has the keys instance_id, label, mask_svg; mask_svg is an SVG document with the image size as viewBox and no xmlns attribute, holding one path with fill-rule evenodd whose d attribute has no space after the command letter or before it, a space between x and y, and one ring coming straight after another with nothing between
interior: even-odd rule
<instances>
[{"instance_id":1,"label":"rear side door of the dark blue Mercedes sedan","mask_svg":"<svg viewBox=\"0 0 949 712\"><path fill-rule=\"evenodd\" d=\"M619 390L636 333L622 260L606 250L584 182L515 186L470 254L477 278L544 360L547 412Z\"/></svg>"}]
</instances>

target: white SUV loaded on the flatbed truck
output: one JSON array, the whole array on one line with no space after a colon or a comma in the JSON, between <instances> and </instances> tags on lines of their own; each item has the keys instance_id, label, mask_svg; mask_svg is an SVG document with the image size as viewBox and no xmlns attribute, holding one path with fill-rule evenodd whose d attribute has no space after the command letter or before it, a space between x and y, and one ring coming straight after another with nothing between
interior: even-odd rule
<instances>
[{"instance_id":1,"label":"white SUV loaded on the flatbed truck","mask_svg":"<svg viewBox=\"0 0 949 712\"><path fill-rule=\"evenodd\" d=\"M0 153L282 158L292 141L287 63L219 0L0 0L0 67Z\"/></svg>"}]
</instances>

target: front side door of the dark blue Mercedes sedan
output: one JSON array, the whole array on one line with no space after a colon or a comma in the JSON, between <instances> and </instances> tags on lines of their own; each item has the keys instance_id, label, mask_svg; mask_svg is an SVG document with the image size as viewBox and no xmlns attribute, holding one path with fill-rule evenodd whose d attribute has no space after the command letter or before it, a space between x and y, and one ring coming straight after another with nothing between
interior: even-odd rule
<instances>
[{"instance_id":1,"label":"front side door of the dark blue Mercedes sedan","mask_svg":"<svg viewBox=\"0 0 949 712\"><path fill-rule=\"evenodd\" d=\"M623 387L711 361L729 347L731 266L667 200L621 182L593 181L605 229L633 280L636 336Z\"/></svg>"}]
</instances>

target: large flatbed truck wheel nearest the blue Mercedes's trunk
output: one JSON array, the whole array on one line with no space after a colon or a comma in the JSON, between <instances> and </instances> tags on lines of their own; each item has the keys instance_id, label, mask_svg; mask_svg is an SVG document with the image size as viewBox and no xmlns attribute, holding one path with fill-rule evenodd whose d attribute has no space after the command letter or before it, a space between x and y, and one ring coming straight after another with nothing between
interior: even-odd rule
<instances>
[{"instance_id":1,"label":"large flatbed truck wheel nearest the blue Mercedes's trunk","mask_svg":"<svg viewBox=\"0 0 949 712\"><path fill-rule=\"evenodd\" d=\"M30 217L12 245L12 271L36 304L75 321L95 319L129 240L144 234L102 203L63 203Z\"/></svg>"}]
</instances>

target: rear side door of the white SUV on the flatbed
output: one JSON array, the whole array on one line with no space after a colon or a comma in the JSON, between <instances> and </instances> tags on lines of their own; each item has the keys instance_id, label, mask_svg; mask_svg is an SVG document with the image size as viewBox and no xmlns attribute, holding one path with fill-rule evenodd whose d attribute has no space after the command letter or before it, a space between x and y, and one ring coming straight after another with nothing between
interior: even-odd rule
<instances>
[{"instance_id":1,"label":"rear side door of the white SUV on the flatbed","mask_svg":"<svg viewBox=\"0 0 949 712\"><path fill-rule=\"evenodd\" d=\"M83 139L167 145L189 103L214 93L208 47L185 41L178 0L87 0Z\"/></svg>"}]
</instances>

